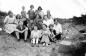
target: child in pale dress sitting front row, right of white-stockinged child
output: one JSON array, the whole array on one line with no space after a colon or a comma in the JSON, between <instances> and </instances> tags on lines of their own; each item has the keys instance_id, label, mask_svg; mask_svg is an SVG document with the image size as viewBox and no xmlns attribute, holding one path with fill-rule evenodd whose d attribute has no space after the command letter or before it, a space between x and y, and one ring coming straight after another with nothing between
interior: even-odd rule
<instances>
[{"instance_id":1,"label":"child in pale dress sitting front row, right of white-stockinged child","mask_svg":"<svg viewBox=\"0 0 86 56\"><path fill-rule=\"evenodd\" d=\"M50 31L49 29L47 29L47 25L43 24L42 40L41 40L41 42L44 42L43 45L48 46L48 44L50 44L49 36L50 36Z\"/></svg>"}]
</instances>

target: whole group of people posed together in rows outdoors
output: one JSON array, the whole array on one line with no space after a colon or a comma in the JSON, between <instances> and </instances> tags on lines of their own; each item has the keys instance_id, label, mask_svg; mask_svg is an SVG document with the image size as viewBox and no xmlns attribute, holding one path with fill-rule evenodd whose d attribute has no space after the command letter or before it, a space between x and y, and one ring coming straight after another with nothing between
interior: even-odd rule
<instances>
[{"instance_id":1,"label":"whole group of people posed together in rows outdoors","mask_svg":"<svg viewBox=\"0 0 86 56\"><path fill-rule=\"evenodd\" d=\"M34 10L34 5L30 5L28 12L24 6L21 14L14 15L9 11L4 19L5 32L14 32L18 41L23 38L27 42L29 39L33 45L42 43L47 46L51 42L61 40L61 24L52 17L50 10L47 10L46 15L42 10L41 6Z\"/></svg>"}]
</instances>

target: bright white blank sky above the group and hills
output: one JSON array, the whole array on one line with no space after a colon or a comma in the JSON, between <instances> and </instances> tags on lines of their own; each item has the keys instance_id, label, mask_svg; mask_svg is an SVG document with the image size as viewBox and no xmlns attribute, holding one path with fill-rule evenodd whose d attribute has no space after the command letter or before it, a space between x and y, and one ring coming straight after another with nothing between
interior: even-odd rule
<instances>
[{"instance_id":1,"label":"bright white blank sky above the group and hills","mask_svg":"<svg viewBox=\"0 0 86 56\"><path fill-rule=\"evenodd\" d=\"M72 18L86 14L86 0L0 0L0 10L20 14L22 6L28 11L31 4L35 10L41 6L45 14L50 10L54 18Z\"/></svg>"}]
</instances>

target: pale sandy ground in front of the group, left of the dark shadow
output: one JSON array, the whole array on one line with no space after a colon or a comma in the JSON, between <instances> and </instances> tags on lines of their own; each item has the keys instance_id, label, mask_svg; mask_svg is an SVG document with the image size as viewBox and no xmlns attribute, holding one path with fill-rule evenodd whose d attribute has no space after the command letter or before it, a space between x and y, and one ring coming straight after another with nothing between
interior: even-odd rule
<instances>
[{"instance_id":1,"label":"pale sandy ground in front of the group, left of the dark shadow","mask_svg":"<svg viewBox=\"0 0 86 56\"><path fill-rule=\"evenodd\" d=\"M23 41L17 42L15 38L0 36L0 56L52 56L52 48L48 47L31 47L30 43Z\"/></svg>"}]
</instances>

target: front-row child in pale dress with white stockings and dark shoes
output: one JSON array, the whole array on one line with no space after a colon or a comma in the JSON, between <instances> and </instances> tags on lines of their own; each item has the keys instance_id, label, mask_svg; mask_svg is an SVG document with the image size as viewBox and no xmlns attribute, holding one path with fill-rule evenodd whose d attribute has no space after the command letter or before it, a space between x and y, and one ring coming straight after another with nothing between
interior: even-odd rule
<instances>
[{"instance_id":1,"label":"front-row child in pale dress with white stockings and dark shoes","mask_svg":"<svg viewBox=\"0 0 86 56\"><path fill-rule=\"evenodd\" d=\"M32 44L37 45L40 37L41 37L41 30L38 30L37 26L34 26L34 30L31 31Z\"/></svg>"}]
</instances>

